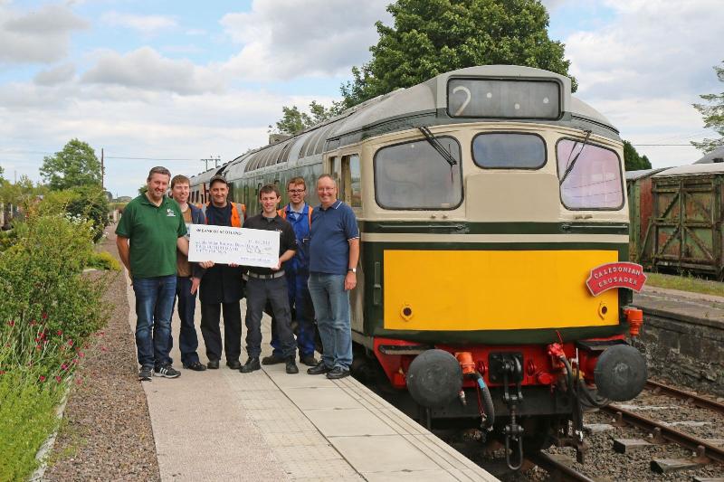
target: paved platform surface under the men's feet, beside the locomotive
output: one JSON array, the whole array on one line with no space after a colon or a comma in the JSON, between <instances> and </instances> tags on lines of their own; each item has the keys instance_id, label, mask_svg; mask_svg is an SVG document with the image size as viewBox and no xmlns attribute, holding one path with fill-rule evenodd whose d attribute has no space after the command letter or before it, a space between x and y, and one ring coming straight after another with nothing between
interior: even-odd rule
<instances>
[{"instance_id":1,"label":"paved platform surface under the men's feet, beside the locomotive","mask_svg":"<svg viewBox=\"0 0 724 482\"><path fill-rule=\"evenodd\" d=\"M197 303L196 326L200 319ZM162 480L498 480L351 377L309 375L303 364L298 374L283 364L253 373L224 362L219 370L182 369L176 313L172 326L181 376L143 383ZM244 336L245 326L242 345ZM271 354L267 316L262 336L262 355Z\"/></svg>"}]
</instances>

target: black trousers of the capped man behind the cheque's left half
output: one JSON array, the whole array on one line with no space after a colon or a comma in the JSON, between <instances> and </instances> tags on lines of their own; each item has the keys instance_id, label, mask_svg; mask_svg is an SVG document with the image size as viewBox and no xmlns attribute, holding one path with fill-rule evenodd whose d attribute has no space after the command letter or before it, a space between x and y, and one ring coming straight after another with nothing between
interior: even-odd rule
<instances>
[{"instance_id":1,"label":"black trousers of the capped man behind the cheque's left half","mask_svg":"<svg viewBox=\"0 0 724 482\"><path fill-rule=\"evenodd\" d=\"M204 336L206 357L221 360L221 310L224 307L224 353L226 361L239 360L242 354L242 309L238 301L232 303L201 302L201 336Z\"/></svg>"}]
</instances>

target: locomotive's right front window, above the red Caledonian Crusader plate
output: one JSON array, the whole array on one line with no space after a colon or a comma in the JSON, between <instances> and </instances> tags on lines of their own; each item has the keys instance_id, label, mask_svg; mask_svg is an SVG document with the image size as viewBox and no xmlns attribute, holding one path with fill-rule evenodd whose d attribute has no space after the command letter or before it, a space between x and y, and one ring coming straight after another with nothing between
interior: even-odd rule
<instances>
[{"instance_id":1,"label":"locomotive's right front window, above the red Caledonian Crusader plate","mask_svg":"<svg viewBox=\"0 0 724 482\"><path fill-rule=\"evenodd\" d=\"M572 139L559 140L556 151L558 178L565 176L560 198L567 209L616 210L624 205L621 162L614 151Z\"/></svg>"}]
</instances>

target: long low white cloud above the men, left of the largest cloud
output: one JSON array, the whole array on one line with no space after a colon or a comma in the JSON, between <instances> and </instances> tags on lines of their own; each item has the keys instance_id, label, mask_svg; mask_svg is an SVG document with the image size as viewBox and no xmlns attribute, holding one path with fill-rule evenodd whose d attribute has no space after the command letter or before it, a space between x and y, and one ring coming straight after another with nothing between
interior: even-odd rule
<instances>
[{"instance_id":1,"label":"long low white cloud above the men, left of the largest cloud","mask_svg":"<svg viewBox=\"0 0 724 482\"><path fill-rule=\"evenodd\" d=\"M82 82L171 91L179 95L224 89L224 81L213 71L191 61L168 59L150 47L141 47L125 55L103 51L97 57L96 64L82 75Z\"/></svg>"}]
</instances>

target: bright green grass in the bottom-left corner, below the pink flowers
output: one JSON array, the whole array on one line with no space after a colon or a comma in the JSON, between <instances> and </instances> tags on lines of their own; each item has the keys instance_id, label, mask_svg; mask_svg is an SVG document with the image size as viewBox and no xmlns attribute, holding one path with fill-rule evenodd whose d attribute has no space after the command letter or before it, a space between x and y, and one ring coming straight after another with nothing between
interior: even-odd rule
<instances>
[{"instance_id":1,"label":"bright green grass in the bottom-left corner, below the pink flowers","mask_svg":"<svg viewBox=\"0 0 724 482\"><path fill-rule=\"evenodd\" d=\"M57 427L62 383L39 383L24 374L0 375L0 480L27 480L35 454Z\"/></svg>"}]
</instances>

